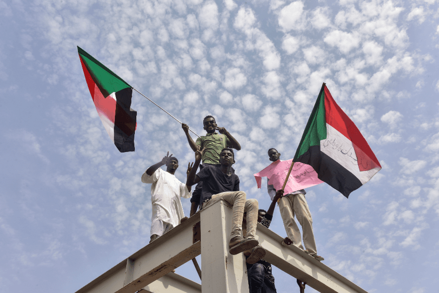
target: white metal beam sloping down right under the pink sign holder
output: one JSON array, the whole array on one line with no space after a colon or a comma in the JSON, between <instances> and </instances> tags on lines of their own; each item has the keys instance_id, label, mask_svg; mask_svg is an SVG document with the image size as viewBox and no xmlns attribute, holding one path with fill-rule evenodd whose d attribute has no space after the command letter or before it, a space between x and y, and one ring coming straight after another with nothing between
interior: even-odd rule
<instances>
[{"instance_id":1,"label":"white metal beam sloping down right under the pink sign holder","mask_svg":"<svg viewBox=\"0 0 439 293\"><path fill-rule=\"evenodd\" d=\"M325 293L367 293L324 263L314 259L302 249L281 244L283 238L258 223L256 235L267 254L264 259L286 273L306 282L310 287Z\"/></svg>"}]
</instances>

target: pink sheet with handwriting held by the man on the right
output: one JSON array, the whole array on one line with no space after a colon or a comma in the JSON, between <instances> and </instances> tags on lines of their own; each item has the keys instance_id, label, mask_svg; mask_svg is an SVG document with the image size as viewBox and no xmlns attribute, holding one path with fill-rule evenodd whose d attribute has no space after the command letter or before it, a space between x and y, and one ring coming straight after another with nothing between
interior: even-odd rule
<instances>
[{"instance_id":1,"label":"pink sheet with handwriting held by the man on the right","mask_svg":"<svg viewBox=\"0 0 439 293\"><path fill-rule=\"evenodd\" d=\"M273 184L276 190L282 189L292 162L293 159L284 161L278 159L259 173L254 174L258 188L261 188L262 177L267 177L268 184ZM323 181L317 177L317 172L312 166L301 162L295 162L290 177L288 178L287 185L285 186L284 194L286 195L290 192L320 183L323 183Z\"/></svg>"}]
</instances>

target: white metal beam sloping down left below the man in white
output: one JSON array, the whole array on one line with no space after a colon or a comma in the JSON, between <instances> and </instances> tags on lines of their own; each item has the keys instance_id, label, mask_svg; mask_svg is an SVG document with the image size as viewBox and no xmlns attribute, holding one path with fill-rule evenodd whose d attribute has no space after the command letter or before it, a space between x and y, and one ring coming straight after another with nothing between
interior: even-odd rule
<instances>
[{"instance_id":1,"label":"white metal beam sloping down left below the man in white","mask_svg":"<svg viewBox=\"0 0 439 293\"><path fill-rule=\"evenodd\" d=\"M76 293L134 293L201 253L193 243L197 213L85 285Z\"/></svg>"}]
</instances>

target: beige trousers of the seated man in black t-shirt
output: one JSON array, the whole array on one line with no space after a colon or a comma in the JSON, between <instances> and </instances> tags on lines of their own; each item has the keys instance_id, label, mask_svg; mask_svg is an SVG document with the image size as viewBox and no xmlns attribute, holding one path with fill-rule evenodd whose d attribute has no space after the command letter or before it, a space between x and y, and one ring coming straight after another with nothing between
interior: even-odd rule
<instances>
[{"instance_id":1,"label":"beige trousers of the seated man in black t-shirt","mask_svg":"<svg viewBox=\"0 0 439 293\"><path fill-rule=\"evenodd\" d=\"M244 191L227 191L212 195L209 201L203 203L202 208L204 209L218 202L221 198L233 205L230 239L241 235L244 210L247 211L247 237L254 238L256 236L256 225L258 223L258 200L254 198L246 199Z\"/></svg>"}]
</instances>

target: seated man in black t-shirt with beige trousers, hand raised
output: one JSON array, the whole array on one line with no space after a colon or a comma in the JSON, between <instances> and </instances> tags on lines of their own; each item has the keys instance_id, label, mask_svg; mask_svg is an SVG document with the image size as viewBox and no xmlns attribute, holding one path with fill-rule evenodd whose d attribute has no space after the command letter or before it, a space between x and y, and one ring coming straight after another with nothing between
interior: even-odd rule
<instances>
[{"instance_id":1,"label":"seated man in black t-shirt with beige trousers, hand raised","mask_svg":"<svg viewBox=\"0 0 439 293\"><path fill-rule=\"evenodd\" d=\"M254 198L246 199L245 192L239 191L239 177L232 172L232 165L235 163L233 149L224 148L221 151L220 165L206 165L198 174L195 174L201 162L201 156L202 153L199 150L195 151L195 164L186 181L188 186L203 182L203 190L200 198L196 199L196 203L201 204L201 208L206 208L224 199L233 205L230 254L238 254L258 246L259 242L255 239L258 201ZM241 236L244 210L247 211L247 238L245 239ZM191 210L190 215L192 216L193 213L195 212ZM265 249L258 246L257 251L252 253L257 253L260 258L265 255Z\"/></svg>"}]
</instances>

